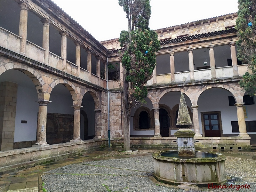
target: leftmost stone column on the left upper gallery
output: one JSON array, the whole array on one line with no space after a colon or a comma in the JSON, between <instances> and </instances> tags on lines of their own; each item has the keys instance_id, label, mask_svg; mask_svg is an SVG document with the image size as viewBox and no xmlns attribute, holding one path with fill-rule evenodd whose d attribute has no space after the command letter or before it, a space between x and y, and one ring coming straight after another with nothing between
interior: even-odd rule
<instances>
[{"instance_id":1,"label":"leftmost stone column on the left upper gallery","mask_svg":"<svg viewBox=\"0 0 256 192\"><path fill-rule=\"evenodd\" d=\"M20 52L26 54L27 31L28 31L28 6L20 3L20 26L19 36L22 37L20 42Z\"/></svg>"}]
</instances>

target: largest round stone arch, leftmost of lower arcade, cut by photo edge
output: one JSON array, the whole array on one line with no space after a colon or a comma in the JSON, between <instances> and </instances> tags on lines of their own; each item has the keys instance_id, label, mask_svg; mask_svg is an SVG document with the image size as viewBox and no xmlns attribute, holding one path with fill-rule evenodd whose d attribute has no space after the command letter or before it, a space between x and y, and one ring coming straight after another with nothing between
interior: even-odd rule
<instances>
[{"instance_id":1,"label":"largest round stone arch, leftmost of lower arcade, cut by photo edge","mask_svg":"<svg viewBox=\"0 0 256 192\"><path fill-rule=\"evenodd\" d=\"M0 75L4 73L5 71L8 71L10 69L18 70L25 75L28 76L28 78L31 79L32 83L36 87L36 92L38 95L38 100L45 100L46 97L46 90L43 90L44 80L42 79L41 75L39 75L34 68L31 68L25 64L13 62L13 63L6 63L1 66L0 68Z\"/></svg>"}]
</instances>

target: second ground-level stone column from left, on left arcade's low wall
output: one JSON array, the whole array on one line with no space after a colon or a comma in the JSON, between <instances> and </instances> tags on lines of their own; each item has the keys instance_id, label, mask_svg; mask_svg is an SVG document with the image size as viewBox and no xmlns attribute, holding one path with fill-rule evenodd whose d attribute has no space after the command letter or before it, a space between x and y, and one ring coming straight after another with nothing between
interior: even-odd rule
<instances>
[{"instance_id":1,"label":"second ground-level stone column from left, on left arcade's low wall","mask_svg":"<svg viewBox=\"0 0 256 192\"><path fill-rule=\"evenodd\" d=\"M80 138L80 108L82 106L75 105L74 108L74 133L71 141L82 141Z\"/></svg>"}]
</instances>

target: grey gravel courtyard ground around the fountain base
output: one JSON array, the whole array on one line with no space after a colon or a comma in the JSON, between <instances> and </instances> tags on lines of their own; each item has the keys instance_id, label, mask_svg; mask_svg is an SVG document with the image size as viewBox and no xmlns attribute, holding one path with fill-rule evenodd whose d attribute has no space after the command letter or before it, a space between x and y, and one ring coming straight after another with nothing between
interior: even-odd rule
<instances>
[{"instance_id":1,"label":"grey gravel courtyard ground around the fountain base","mask_svg":"<svg viewBox=\"0 0 256 192\"><path fill-rule=\"evenodd\" d=\"M144 151L145 152L145 151ZM151 151L152 152L152 151ZM113 154L112 154L113 155ZM250 185L250 189L207 189L188 191L256 191L256 160L227 156L226 173L234 185ZM43 174L48 192L175 192L184 191L153 182L153 157L137 156L122 159L70 164Z\"/></svg>"}]
</instances>

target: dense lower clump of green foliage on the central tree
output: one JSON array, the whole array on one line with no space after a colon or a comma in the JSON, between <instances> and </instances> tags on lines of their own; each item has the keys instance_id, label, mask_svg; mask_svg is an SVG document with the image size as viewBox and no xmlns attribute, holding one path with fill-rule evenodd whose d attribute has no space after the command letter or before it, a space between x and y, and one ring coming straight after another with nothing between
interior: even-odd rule
<instances>
[{"instance_id":1,"label":"dense lower clump of green foliage on the central tree","mask_svg":"<svg viewBox=\"0 0 256 192\"><path fill-rule=\"evenodd\" d=\"M127 41L127 31L122 31L119 41L124 50L120 51L122 65L126 69L126 81L130 83L129 94L144 103L147 97L145 84L156 67L156 51L159 50L157 34L153 30L135 29L131 31L131 42ZM148 51L146 53L146 51Z\"/></svg>"}]
</instances>

